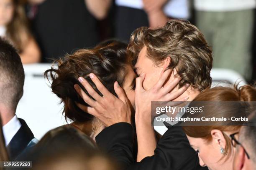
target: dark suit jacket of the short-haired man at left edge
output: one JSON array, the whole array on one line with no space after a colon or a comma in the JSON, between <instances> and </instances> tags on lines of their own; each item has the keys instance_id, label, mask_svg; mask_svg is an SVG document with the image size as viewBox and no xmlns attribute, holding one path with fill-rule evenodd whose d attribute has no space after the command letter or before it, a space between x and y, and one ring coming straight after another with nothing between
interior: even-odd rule
<instances>
[{"instance_id":1,"label":"dark suit jacket of the short-haired man at left edge","mask_svg":"<svg viewBox=\"0 0 256 170\"><path fill-rule=\"evenodd\" d=\"M15 158L26 148L28 143L34 138L34 135L30 128L28 127L25 120L20 119L21 127L18 132L13 136L10 143L7 145L7 152L10 161L15 160Z\"/></svg>"}]
</instances>

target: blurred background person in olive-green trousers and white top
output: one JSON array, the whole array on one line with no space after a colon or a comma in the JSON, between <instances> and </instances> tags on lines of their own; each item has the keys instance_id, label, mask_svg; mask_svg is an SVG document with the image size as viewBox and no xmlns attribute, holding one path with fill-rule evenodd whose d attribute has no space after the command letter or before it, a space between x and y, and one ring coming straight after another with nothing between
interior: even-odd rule
<instances>
[{"instance_id":1,"label":"blurred background person in olive-green trousers and white top","mask_svg":"<svg viewBox=\"0 0 256 170\"><path fill-rule=\"evenodd\" d=\"M194 0L197 27L213 49L213 67L251 79L255 0Z\"/></svg>"}]
</instances>

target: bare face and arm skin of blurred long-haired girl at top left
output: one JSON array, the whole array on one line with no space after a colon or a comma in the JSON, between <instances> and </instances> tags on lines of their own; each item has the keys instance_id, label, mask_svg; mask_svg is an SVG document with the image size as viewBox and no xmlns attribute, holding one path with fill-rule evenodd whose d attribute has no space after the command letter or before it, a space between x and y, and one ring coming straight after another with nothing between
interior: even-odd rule
<instances>
[{"instance_id":1,"label":"bare face and arm skin of blurred long-haired girl at top left","mask_svg":"<svg viewBox=\"0 0 256 170\"><path fill-rule=\"evenodd\" d=\"M13 20L14 8L13 0L0 0L0 26L6 27ZM21 32L20 34L22 34L23 40L26 42L26 44L22 45L22 52L20 53L22 63L30 64L39 62L41 53L36 41L33 37L26 35L26 33Z\"/></svg>"}]
</instances>

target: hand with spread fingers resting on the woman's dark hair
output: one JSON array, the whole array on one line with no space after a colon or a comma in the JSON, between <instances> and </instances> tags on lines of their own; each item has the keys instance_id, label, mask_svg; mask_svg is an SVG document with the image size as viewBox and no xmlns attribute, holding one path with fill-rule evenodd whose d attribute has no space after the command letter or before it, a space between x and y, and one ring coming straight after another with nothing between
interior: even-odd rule
<instances>
[{"instance_id":1,"label":"hand with spread fingers resting on the woman's dark hair","mask_svg":"<svg viewBox=\"0 0 256 170\"><path fill-rule=\"evenodd\" d=\"M84 110L84 112L97 117L107 127L118 122L131 123L129 100L123 88L118 85L118 82L114 83L114 90L118 95L118 97L115 97L94 74L90 73L90 78L103 96L101 97L83 77L79 77L79 82L96 101L86 95L79 85L74 85L74 88L83 98L84 102L91 106L87 107L78 103L78 107Z\"/></svg>"}]
</instances>

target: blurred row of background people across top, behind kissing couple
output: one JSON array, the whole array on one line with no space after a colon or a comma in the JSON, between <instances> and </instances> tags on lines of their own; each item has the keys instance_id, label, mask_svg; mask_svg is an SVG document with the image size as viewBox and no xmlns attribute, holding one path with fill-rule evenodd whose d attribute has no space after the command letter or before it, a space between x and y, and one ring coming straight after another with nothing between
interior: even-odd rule
<instances>
[{"instance_id":1,"label":"blurred row of background people across top, behind kissing couple","mask_svg":"<svg viewBox=\"0 0 256 170\"><path fill-rule=\"evenodd\" d=\"M52 62L108 38L128 42L141 26L183 18L212 46L213 67L251 81L255 7L255 0L0 0L0 36L15 45L24 64Z\"/></svg>"}]
</instances>

